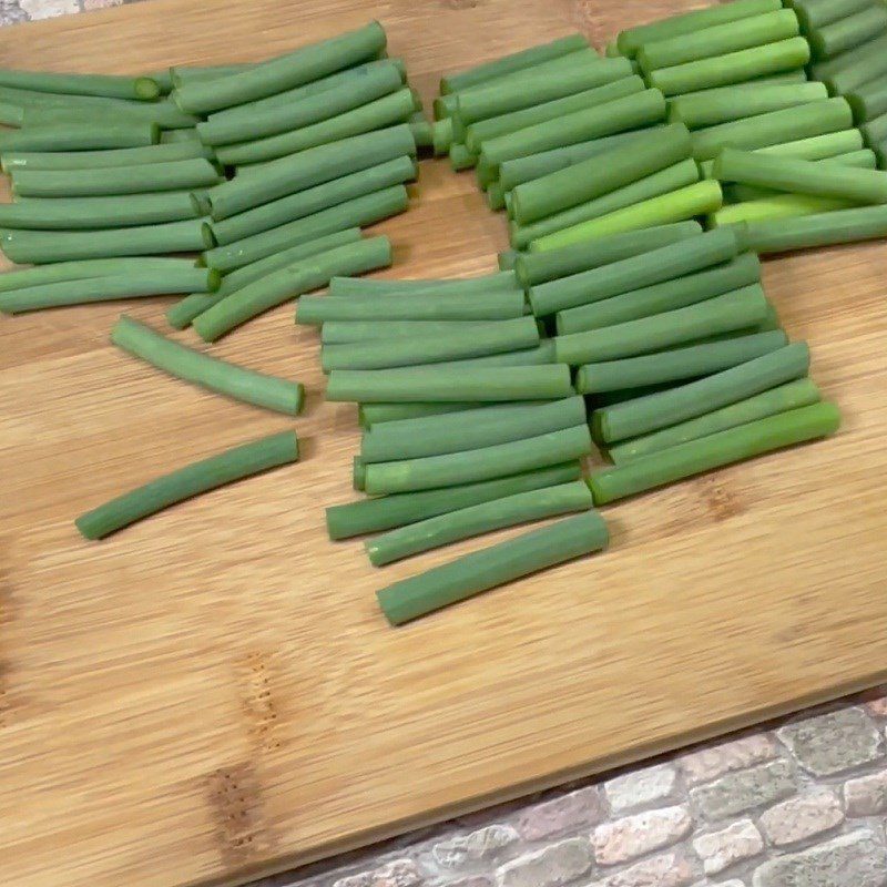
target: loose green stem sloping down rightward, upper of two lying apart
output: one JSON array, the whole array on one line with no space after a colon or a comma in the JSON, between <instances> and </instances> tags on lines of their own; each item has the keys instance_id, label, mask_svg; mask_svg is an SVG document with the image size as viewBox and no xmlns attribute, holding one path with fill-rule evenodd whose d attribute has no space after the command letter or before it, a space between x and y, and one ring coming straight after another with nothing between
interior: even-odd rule
<instances>
[{"instance_id":1,"label":"loose green stem sloping down rightward, upper of two lying apart","mask_svg":"<svg viewBox=\"0 0 887 887\"><path fill-rule=\"evenodd\" d=\"M288 416L297 416L302 410L305 391L299 383L267 376L201 354L125 315L111 332L111 341L171 376L244 404L254 404Z\"/></svg>"}]
</instances>

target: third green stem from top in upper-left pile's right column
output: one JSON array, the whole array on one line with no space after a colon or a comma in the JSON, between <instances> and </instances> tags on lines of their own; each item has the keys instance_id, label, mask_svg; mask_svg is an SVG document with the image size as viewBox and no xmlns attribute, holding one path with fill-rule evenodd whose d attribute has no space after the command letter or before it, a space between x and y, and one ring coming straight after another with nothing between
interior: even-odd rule
<instances>
[{"instance_id":1,"label":"third green stem from top in upper-left pile's right column","mask_svg":"<svg viewBox=\"0 0 887 887\"><path fill-rule=\"evenodd\" d=\"M288 157L309 147L332 144L396 123L406 123L417 110L416 93L410 89L401 89L310 126L251 142L220 145L215 152L218 160L227 166Z\"/></svg>"}]
</instances>

